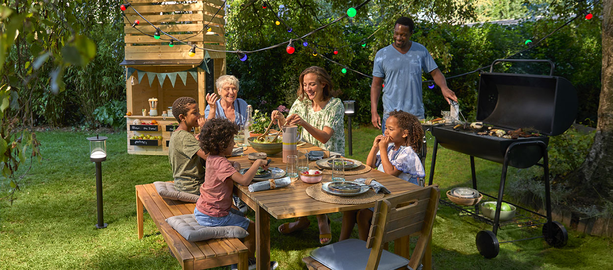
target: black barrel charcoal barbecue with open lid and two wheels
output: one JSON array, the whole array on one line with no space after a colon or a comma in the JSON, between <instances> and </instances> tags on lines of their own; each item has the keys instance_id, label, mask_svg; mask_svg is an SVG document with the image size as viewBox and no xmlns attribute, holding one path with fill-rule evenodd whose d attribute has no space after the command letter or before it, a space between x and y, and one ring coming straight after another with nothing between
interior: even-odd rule
<instances>
[{"instance_id":1,"label":"black barrel charcoal barbecue with open lid and two wheels","mask_svg":"<svg viewBox=\"0 0 613 270\"><path fill-rule=\"evenodd\" d=\"M545 62L551 65L549 75L505 74L492 72L494 64L498 62ZM480 231L476 236L479 253L485 258L498 255L499 244L496 234L501 225L543 225L543 235L530 237L534 239L544 237L547 244L554 247L566 245L568 234L559 222L552 221L551 203L549 194L549 170L547 161L547 144L549 137L564 133L574 122L577 114L577 94L568 80L553 76L554 63L549 60L496 60L490 67L490 72L481 74L477 104L477 120L493 128L515 130L518 128L538 131L541 136L519 137L518 139L505 139L477 134L474 130L454 129L454 126L434 126L432 135L435 137L430 165L429 184L433 182L436 164L436 150L438 144L446 149L465 153L470 156L473 188L477 189L474 169L474 157L502 163L500 188L497 199L495 218L484 217L478 206L460 207L449 201L441 202L457 208L462 212L493 225L492 231ZM543 163L538 163L543 158ZM524 207L517 206L518 215L514 220L501 224L500 208L503 201L504 181L508 166L515 168L529 168L533 165L543 167L545 183L546 215L541 215ZM505 202L508 203L508 202ZM535 217L537 217L535 219ZM546 222L538 223L537 220ZM519 239L526 240L526 239ZM519 241L514 240L514 241ZM506 242L514 242L506 241Z\"/></svg>"}]
</instances>

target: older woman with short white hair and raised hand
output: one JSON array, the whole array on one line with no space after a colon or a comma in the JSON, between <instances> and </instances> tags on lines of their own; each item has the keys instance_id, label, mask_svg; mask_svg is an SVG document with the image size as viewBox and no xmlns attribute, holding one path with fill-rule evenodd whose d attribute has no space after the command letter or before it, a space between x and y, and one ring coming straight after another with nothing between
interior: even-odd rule
<instances>
[{"instance_id":1,"label":"older woman with short white hair and raised hand","mask_svg":"<svg viewBox=\"0 0 613 270\"><path fill-rule=\"evenodd\" d=\"M237 98L238 85L238 79L233 75L220 76L215 82L217 95L208 93L206 96L208 105L204 110L204 117L207 119L227 118L237 125L245 125L247 102Z\"/></svg>"}]
</instances>

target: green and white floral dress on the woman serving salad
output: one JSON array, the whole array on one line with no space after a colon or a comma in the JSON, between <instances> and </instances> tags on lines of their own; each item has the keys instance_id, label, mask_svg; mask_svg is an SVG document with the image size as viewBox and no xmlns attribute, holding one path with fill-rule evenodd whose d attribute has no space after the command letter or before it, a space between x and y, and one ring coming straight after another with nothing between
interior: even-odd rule
<instances>
[{"instance_id":1,"label":"green and white floral dress on the woman serving salad","mask_svg":"<svg viewBox=\"0 0 613 270\"><path fill-rule=\"evenodd\" d=\"M334 131L332 137L330 137L325 144L318 141L307 132L303 132L302 141L316 145L324 150L337 152L343 156L345 155L345 107L340 99L330 98L326 106L318 112L313 110L310 99L306 99L305 101L296 99L292 105L292 109L289 110L289 115L292 114L300 115L303 120L317 129L324 129L324 126L329 126Z\"/></svg>"}]
</instances>

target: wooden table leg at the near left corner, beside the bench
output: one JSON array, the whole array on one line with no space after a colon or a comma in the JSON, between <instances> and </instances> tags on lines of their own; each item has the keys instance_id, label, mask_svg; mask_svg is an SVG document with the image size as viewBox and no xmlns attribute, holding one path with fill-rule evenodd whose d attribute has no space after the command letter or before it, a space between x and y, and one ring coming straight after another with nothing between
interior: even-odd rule
<instances>
[{"instance_id":1,"label":"wooden table leg at the near left corner, beside the bench","mask_svg":"<svg viewBox=\"0 0 613 270\"><path fill-rule=\"evenodd\" d=\"M256 263L257 270L270 269L270 215L256 207Z\"/></svg>"}]
</instances>

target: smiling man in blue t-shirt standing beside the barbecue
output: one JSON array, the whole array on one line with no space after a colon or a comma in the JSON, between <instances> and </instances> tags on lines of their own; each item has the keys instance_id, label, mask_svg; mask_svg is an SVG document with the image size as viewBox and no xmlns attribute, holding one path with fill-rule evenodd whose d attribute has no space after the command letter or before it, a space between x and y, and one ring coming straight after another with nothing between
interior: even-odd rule
<instances>
[{"instance_id":1,"label":"smiling man in blue t-shirt standing beside the barbecue","mask_svg":"<svg viewBox=\"0 0 613 270\"><path fill-rule=\"evenodd\" d=\"M420 119L425 117L422 70L432 75L447 102L450 102L449 99L457 101L454 91L447 87L445 76L428 50L424 45L409 41L413 27L411 18L398 18L394 26L394 43L379 50L375 56L373 83L370 86L370 113L373 126L383 129L384 133L385 122L392 110L403 110ZM383 122L377 112L382 89Z\"/></svg>"}]
</instances>

